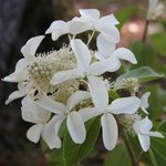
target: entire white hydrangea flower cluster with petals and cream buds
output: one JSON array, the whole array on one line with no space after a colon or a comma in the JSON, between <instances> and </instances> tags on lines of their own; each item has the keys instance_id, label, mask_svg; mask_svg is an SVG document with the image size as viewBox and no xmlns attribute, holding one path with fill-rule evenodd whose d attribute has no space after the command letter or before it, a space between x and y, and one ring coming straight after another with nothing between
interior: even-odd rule
<instances>
[{"instance_id":1,"label":"entire white hydrangea flower cluster with petals and cream buds","mask_svg":"<svg viewBox=\"0 0 166 166\"><path fill-rule=\"evenodd\" d=\"M80 14L68 22L54 21L46 30L54 41L69 35L69 44L60 50L35 54L44 35L34 37L22 46L23 58L14 72L3 79L18 83L19 89L10 94L6 104L23 97L22 118L33 124L28 129L28 138L38 143L42 136L50 148L61 147L59 131L63 122L73 142L82 144L89 136L84 123L101 116L106 149L115 147L120 123L137 134L143 149L147 151L149 136L163 137L158 132L151 132L149 93L136 96L137 80L125 80L123 86L131 89L131 96L111 102L108 92L115 90L114 84L103 76L105 72L116 72L123 60L137 63L129 50L116 48L118 21L113 14L101 17L96 9L82 9ZM76 38L83 32L90 33L86 43ZM90 49L93 37L96 37L97 50Z\"/></svg>"}]
</instances>

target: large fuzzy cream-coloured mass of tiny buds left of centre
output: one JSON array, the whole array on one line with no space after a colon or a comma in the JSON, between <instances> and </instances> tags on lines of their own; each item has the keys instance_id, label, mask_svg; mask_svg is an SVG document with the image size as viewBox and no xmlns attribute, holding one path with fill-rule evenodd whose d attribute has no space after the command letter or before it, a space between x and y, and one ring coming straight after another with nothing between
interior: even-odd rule
<instances>
[{"instance_id":1,"label":"large fuzzy cream-coloured mass of tiny buds left of centre","mask_svg":"<svg viewBox=\"0 0 166 166\"><path fill-rule=\"evenodd\" d=\"M29 83L39 91L51 93L55 101L65 103L68 97L79 90L80 82L68 81L51 85L50 80L56 72L71 70L75 66L75 56L68 48L62 48L48 55L38 55L28 66Z\"/></svg>"}]
</instances>

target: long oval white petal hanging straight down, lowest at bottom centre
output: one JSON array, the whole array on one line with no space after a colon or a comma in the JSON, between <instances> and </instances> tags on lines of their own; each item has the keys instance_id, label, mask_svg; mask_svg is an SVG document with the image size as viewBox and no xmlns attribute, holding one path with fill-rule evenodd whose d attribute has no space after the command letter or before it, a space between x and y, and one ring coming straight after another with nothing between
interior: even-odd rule
<instances>
[{"instance_id":1,"label":"long oval white petal hanging straight down, lowest at bottom centre","mask_svg":"<svg viewBox=\"0 0 166 166\"><path fill-rule=\"evenodd\" d=\"M106 149L111 151L117 143L117 124L114 116L106 113L101 118L103 131L103 143Z\"/></svg>"}]
</instances>

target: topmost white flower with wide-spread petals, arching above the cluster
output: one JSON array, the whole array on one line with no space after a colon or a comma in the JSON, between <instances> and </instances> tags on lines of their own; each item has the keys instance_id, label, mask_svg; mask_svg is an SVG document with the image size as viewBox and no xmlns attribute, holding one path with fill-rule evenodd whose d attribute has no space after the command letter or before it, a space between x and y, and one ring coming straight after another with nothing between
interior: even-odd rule
<instances>
[{"instance_id":1,"label":"topmost white flower with wide-spread petals, arching above the cluster","mask_svg":"<svg viewBox=\"0 0 166 166\"><path fill-rule=\"evenodd\" d=\"M58 40L63 34L79 34L87 30L95 30L106 35L113 43L120 41L120 32L115 27L118 21L113 14L100 18L100 11L96 9L81 9L79 10L81 17L73 18L71 21L54 21L45 33L52 34L52 40Z\"/></svg>"}]
</instances>

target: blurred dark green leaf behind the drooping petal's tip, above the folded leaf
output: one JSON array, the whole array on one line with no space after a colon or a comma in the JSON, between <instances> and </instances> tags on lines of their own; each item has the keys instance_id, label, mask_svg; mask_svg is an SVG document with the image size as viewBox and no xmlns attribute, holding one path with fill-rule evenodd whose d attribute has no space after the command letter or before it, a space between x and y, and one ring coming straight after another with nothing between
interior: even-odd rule
<instances>
[{"instance_id":1,"label":"blurred dark green leaf behind the drooping petal's tip, above the folded leaf","mask_svg":"<svg viewBox=\"0 0 166 166\"><path fill-rule=\"evenodd\" d=\"M139 66L151 66L154 69L156 55L152 45L136 41L132 46L132 51L137 60L137 64L132 65L132 69Z\"/></svg>"}]
</instances>

